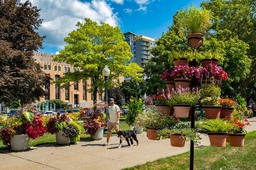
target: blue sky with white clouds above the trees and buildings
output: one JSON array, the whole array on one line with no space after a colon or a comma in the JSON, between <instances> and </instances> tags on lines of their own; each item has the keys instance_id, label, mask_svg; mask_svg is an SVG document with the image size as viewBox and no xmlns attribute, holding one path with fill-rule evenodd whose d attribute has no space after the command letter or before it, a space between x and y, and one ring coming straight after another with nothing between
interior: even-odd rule
<instances>
[{"instance_id":1,"label":"blue sky with white clouds above the trees and buildings","mask_svg":"<svg viewBox=\"0 0 256 170\"><path fill-rule=\"evenodd\" d=\"M25 2L25 0L21 0ZM172 16L177 10L194 3L200 6L203 0L30 0L41 9L44 19L38 32L46 35L44 49L40 52L58 54L67 45L63 38L75 30L77 21L84 23L90 18L111 26L119 26L121 31L133 32L158 39L172 24Z\"/></svg>"}]
</instances>

